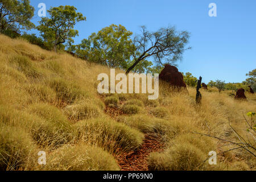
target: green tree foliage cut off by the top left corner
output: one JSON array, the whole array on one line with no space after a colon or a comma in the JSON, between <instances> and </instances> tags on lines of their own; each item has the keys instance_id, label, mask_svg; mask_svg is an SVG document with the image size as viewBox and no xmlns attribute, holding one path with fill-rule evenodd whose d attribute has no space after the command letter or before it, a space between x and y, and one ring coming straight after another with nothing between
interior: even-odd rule
<instances>
[{"instance_id":1,"label":"green tree foliage cut off by the top left corner","mask_svg":"<svg viewBox=\"0 0 256 182\"><path fill-rule=\"evenodd\" d=\"M35 25L30 22L34 16L34 7L29 0L1 0L0 2L0 32L8 28L19 31L21 28L30 30Z\"/></svg>"}]
</instances>

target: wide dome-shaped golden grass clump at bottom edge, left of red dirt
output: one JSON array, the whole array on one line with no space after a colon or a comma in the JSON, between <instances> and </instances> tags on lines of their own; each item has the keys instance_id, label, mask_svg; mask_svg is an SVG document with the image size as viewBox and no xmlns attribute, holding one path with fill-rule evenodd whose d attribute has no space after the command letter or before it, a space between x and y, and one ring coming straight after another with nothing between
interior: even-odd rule
<instances>
[{"instance_id":1,"label":"wide dome-shaped golden grass clump at bottom edge, left of red dirt","mask_svg":"<svg viewBox=\"0 0 256 182\"><path fill-rule=\"evenodd\" d=\"M57 171L118 171L114 157L98 147L84 143L63 146L49 155L42 169Z\"/></svg>"}]
</instances>

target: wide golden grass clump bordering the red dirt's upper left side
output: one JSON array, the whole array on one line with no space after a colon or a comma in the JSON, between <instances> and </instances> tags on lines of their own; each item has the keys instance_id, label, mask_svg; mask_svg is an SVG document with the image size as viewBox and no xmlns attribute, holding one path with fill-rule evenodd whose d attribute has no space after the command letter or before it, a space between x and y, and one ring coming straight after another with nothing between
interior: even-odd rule
<instances>
[{"instance_id":1,"label":"wide golden grass clump bordering the red dirt's upper left side","mask_svg":"<svg viewBox=\"0 0 256 182\"><path fill-rule=\"evenodd\" d=\"M80 121L75 124L79 139L90 144L97 144L110 152L131 151L138 148L144 135L123 123L108 118L96 118Z\"/></svg>"}]
</instances>

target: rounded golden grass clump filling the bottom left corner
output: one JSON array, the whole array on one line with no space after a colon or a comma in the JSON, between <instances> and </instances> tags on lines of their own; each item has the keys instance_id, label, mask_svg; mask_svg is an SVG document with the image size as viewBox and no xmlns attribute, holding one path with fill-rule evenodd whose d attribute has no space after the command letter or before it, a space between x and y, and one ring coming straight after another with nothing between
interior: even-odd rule
<instances>
[{"instance_id":1,"label":"rounded golden grass clump filling the bottom left corner","mask_svg":"<svg viewBox=\"0 0 256 182\"><path fill-rule=\"evenodd\" d=\"M26 170L36 155L36 146L26 131L0 123L0 170Z\"/></svg>"}]
</instances>

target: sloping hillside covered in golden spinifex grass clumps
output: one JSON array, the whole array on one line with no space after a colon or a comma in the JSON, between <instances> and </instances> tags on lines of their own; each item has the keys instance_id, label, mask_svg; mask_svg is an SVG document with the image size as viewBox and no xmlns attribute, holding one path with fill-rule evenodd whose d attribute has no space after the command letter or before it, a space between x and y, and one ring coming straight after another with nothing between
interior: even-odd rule
<instances>
[{"instance_id":1,"label":"sloping hillside covered in golden spinifex grass clumps","mask_svg":"<svg viewBox=\"0 0 256 182\"><path fill-rule=\"evenodd\" d=\"M119 70L119 72L122 72ZM146 94L98 94L107 67L49 52L0 35L1 170L255 170L255 157L230 143L243 138L245 115L256 95L236 101L229 92L176 93L160 83L159 99ZM236 146L235 146L236 147ZM45 151L46 165L38 164ZM210 166L210 151L217 165ZM127 160L129 159L129 160Z\"/></svg>"}]
</instances>

